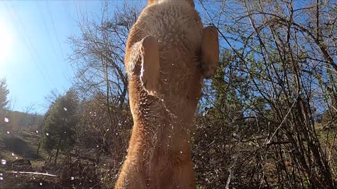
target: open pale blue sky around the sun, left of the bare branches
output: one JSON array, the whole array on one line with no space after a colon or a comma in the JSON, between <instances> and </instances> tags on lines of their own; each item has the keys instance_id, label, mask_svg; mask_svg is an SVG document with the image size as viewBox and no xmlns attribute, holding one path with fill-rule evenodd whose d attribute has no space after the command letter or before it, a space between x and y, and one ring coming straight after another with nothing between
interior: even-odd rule
<instances>
[{"instance_id":1,"label":"open pale blue sky around the sun, left of the bare branches","mask_svg":"<svg viewBox=\"0 0 337 189\"><path fill-rule=\"evenodd\" d=\"M80 12L100 8L100 1L0 1L0 78L7 79L13 110L34 104L34 112L44 113L51 90L69 89L67 37L79 35Z\"/></svg>"}]
</instances>

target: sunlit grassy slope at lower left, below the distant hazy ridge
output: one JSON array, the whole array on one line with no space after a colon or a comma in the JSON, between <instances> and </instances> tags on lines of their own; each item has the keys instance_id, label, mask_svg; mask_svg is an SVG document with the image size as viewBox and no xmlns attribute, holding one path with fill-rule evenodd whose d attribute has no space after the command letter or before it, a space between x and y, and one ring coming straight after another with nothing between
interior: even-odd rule
<instances>
[{"instance_id":1,"label":"sunlit grassy slope at lower left, below the distant hazy ridge","mask_svg":"<svg viewBox=\"0 0 337 189\"><path fill-rule=\"evenodd\" d=\"M6 160L6 165L0 165L0 188L27 189L27 188L59 188L56 178L35 174L10 173L11 162L14 160L28 159L32 163L33 172L39 172L39 167L44 165L46 152L39 146L39 134L22 131L20 134L7 134L0 128L0 159Z\"/></svg>"}]
</instances>

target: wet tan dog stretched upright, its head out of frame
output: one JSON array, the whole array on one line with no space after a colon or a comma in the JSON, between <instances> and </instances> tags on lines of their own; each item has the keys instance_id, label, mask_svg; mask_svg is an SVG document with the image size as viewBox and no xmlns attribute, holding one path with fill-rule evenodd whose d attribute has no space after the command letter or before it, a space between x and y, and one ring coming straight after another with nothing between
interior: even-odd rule
<instances>
[{"instance_id":1,"label":"wet tan dog stretched upright, its head out of frame","mask_svg":"<svg viewBox=\"0 0 337 189\"><path fill-rule=\"evenodd\" d=\"M134 125L115 188L196 188L190 127L218 56L192 0L148 0L126 45Z\"/></svg>"}]
</instances>

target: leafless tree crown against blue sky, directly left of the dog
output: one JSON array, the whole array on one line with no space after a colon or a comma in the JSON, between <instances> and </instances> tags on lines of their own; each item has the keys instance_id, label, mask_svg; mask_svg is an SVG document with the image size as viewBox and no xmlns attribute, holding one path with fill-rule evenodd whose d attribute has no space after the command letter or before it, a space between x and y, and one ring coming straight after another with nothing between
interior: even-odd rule
<instances>
[{"instance_id":1,"label":"leafless tree crown against blue sky, directly left of the dog","mask_svg":"<svg viewBox=\"0 0 337 189\"><path fill-rule=\"evenodd\" d=\"M99 19L81 15L81 37L70 37L73 53L69 59L77 70L75 85L84 96L105 92L108 104L122 107L128 92L123 63L126 38L140 8L131 1L111 12L114 3L105 1Z\"/></svg>"}]
</instances>

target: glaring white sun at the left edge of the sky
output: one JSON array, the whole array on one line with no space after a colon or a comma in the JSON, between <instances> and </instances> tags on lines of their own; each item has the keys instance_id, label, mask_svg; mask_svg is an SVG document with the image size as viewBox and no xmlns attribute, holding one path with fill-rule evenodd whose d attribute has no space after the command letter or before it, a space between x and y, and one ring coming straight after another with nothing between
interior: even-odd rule
<instances>
[{"instance_id":1,"label":"glaring white sun at the left edge of the sky","mask_svg":"<svg viewBox=\"0 0 337 189\"><path fill-rule=\"evenodd\" d=\"M13 47L13 33L7 22L0 20L0 65L6 64L11 56Z\"/></svg>"}]
</instances>

